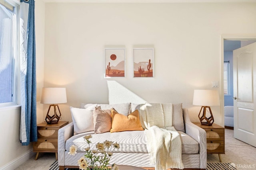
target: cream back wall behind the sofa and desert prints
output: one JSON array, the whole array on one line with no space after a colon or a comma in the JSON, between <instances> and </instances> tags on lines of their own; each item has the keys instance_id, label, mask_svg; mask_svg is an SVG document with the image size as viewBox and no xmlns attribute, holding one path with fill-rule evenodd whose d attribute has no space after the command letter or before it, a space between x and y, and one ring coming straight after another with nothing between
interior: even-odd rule
<instances>
[{"instance_id":1,"label":"cream back wall behind the sofa and desert prints","mask_svg":"<svg viewBox=\"0 0 256 170\"><path fill-rule=\"evenodd\" d=\"M44 86L67 88L68 103L60 109L62 119L72 121L69 106L108 103L104 48L126 47L126 78L111 80L147 102L182 102L192 121L199 121L194 89L212 89L218 81L214 90L221 93L220 36L256 34L255 8L256 3L46 3ZM154 78L132 78L133 47L154 47ZM212 111L223 125L221 108Z\"/></svg>"}]
</instances>

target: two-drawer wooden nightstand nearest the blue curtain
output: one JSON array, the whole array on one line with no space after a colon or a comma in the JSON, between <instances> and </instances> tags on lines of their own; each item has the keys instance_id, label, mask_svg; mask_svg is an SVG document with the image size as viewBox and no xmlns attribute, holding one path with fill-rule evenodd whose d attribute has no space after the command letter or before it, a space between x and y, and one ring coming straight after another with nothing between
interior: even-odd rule
<instances>
[{"instance_id":1,"label":"two-drawer wooden nightstand nearest the blue curtain","mask_svg":"<svg viewBox=\"0 0 256 170\"><path fill-rule=\"evenodd\" d=\"M56 160L58 159L58 130L68 121L59 121L56 124L39 123L37 125L37 142L34 142L33 152L36 153L37 160L40 152L55 152Z\"/></svg>"}]
</instances>

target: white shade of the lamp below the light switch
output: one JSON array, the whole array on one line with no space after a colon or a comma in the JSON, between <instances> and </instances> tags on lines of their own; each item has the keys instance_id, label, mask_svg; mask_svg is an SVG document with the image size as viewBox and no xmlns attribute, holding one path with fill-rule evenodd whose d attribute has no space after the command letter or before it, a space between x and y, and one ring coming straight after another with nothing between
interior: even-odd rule
<instances>
[{"instance_id":1,"label":"white shade of the lamp below the light switch","mask_svg":"<svg viewBox=\"0 0 256 170\"><path fill-rule=\"evenodd\" d=\"M193 105L219 106L220 98L217 90L194 90Z\"/></svg>"}]
</instances>

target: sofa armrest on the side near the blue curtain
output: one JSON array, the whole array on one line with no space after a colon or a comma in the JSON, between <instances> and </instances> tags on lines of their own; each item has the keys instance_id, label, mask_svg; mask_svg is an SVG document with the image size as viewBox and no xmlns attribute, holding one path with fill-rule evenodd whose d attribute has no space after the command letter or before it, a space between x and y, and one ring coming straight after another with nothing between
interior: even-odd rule
<instances>
[{"instance_id":1,"label":"sofa armrest on the side near the blue curtain","mask_svg":"<svg viewBox=\"0 0 256 170\"><path fill-rule=\"evenodd\" d=\"M65 165L65 143L70 137L74 135L73 122L60 128L58 130L58 164L59 166Z\"/></svg>"}]
</instances>

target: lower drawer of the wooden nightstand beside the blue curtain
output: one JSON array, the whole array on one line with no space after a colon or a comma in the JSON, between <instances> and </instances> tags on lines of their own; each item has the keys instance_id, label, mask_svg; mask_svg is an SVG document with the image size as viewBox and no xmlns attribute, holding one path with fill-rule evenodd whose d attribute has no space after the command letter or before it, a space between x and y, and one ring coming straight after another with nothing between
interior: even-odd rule
<instances>
[{"instance_id":1,"label":"lower drawer of the wooden nightstand beside the blue curtain","mask_svg":"<svg viewBox=\"0 0 256 170\"><path fill-rule=\"evenodd\" d=\"M38 139L37 142L34 143L33 150L34 151L57 151L58 150L58 139Z\"/></svg>"}]
</instances>

